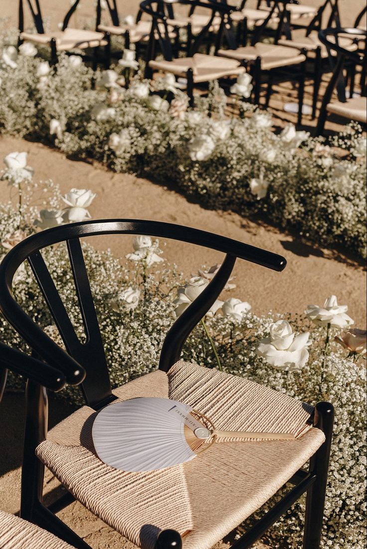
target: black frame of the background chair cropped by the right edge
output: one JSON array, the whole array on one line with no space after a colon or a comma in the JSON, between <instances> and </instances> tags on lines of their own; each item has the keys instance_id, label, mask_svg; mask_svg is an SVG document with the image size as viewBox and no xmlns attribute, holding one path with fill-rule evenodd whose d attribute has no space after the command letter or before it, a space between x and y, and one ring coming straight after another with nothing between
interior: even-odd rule
<instances>
[{"instance_id":1,"label":"black frame of the background chair cropped by the right edge","mask_svg":"<svg viewBox=\"0 0 367 549\"><path fill-rule=\"evenodd\" d=\"M329 81L329 84L327 85L327 88L324 93L324 98L322 99L322 104L320 108L320 114L319 114L319 120L318 125L316 127L316 135L322 135L324 132L325 122L327 119L327 110L326 105L330 103L332 93L336 89L337 90L337 96L338 100L342 103L347 102L346 98L346 79L344 79L343 76L343 70L345 68L345 61L346 59L349 60L349 63L353 63L354 65L359 65L362 67L361 71L361 92L362 96L366 96L366 56L365 54L362 54L360 52L349 52L347 49L341 47L338 44L338 35L348 35L348 36L365 36L367 38L367 32L362 29L325 29L322 31L319 31L319 39L320 41L325 44L327 47L327 50L329 52L330 57L330 63L334 63L333 73L331 76L331 79ZM335 42L329 41L327 38L329 36L333 36L335 38ZM337 53L337 61L333 60L333 56L331 55L330 51L333 50ZM351 73L349 71L349 75L354 75L354 71ZM347 75L348 77L348 75ZM353 76L352 76L353 77ZM351 83L351 86L349 88L352 90L354 89L354 81ZM349 92L350 93L350 92Z\"/></svg>"}]
</instances>

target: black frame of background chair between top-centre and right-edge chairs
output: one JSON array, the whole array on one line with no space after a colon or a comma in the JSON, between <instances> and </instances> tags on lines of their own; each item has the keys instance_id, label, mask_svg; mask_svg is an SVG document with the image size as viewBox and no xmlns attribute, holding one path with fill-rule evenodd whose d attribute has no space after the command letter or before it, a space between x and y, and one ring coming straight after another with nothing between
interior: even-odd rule
<instances>
[{"instance_id":1,"label":"black frame of background chair between top-centre and right-edge chairs","mask_svg":"<svg viewBox=\"0 0 367 549\"><path fill-rule=\"evenodd\" d=\"M261 25L256 26L251 37L251 41L250 41L251 46L255 46L256 43L261 42L263 34L266 31L266 26L268 25L270 19L275 13L275 10L279 12L279 24L277 26L277 30L275 33L275 44L277 43L277 41L281 36L282 27L285 24L287 3L288 3L288 0L275 0L275 2L273 2L273 5L269 10L269 15L266 17L266 19L264 19ZM246 23L245 23L245 28L246 28ZM228 46L228 49L237 49L238 43L237 43L235 32L233 32L233 29L232 29L232 22L230 17L227 18L225 24L221 27L221 34L217 42L215 53L218 52L218 49L221 47L221 43L223 43L224 38ZM302 49L301 53L305 55L305 60L299 64L298 69L295 69L294 66L292 65L292 68L288 70L286 67L264 70L262 69L262 66L261 66L261 61L262 61L261 57L257 57L254 60L243 59L243 65L246 66L246 68L249 70L249 73L251 74L254 80L253 102L255 105L260 106L260 90L261 90L263 75L266 76L266 83L267 83L266 94L265 94L265 104L264 104L264 107L266 109L269 107L271 93L273 92L274 80L277 80L277 81L298 80L298 105L299 105L298 117L297 117L298 124L301 124L302 122L304 79L305 79L305 71L306 71L306 65L307 65L307 52L305 51L305 49Z\"/></svg>"}]
</instances>

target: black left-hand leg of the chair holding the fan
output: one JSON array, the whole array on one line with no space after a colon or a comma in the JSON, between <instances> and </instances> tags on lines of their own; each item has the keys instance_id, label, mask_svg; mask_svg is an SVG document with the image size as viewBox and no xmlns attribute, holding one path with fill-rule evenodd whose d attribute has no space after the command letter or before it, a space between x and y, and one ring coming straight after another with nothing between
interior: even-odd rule
<instances>
[{"instance_id":1,"label":"black left-hand leg of the chair holding the fan","mask_svg":"<svg viewBox=\"0 0 367 549\"><path fill-rule=\"evenodd\" d=\"M27 381L24 453L21 468L20 517L32 522L35 507L42 502L45 466L36 456L36 448L47 434L47 391L38 383Z\"/></svg>"}]
</instances>

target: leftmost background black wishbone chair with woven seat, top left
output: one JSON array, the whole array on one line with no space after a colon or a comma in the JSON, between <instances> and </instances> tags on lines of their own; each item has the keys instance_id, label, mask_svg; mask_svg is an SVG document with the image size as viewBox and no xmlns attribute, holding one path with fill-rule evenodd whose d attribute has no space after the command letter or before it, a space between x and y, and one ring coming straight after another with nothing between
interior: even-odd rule
<instances>
[{"instance_id":1,"label":"leftmost background black wishbone chair with woven seat, top left","mask_svg":"<svg viewBox=\"0 0 367 549\"><path fill-rule=\"evenodd\" d=\"M58 54L76 54L75 49L92 49L92 55L84 53L81 57L86 61L92 61L93 69L97 68L99 60L99 48L104 47L104 54L101 58L105 69L110 64L110 40L107 32L95 32L90 30L73 29L69 27L69 21L74 14L80 0L74 0L63 20L62 29L57 31L45 32L43 25L41 5L39 0L26 0L27 7L30 10L34 21L36 32L24 32L24 0L19 0L19 42L34 42L38 46L48 46L51 48L51 63L57 63Z\"/></svg>"}]
</instances>

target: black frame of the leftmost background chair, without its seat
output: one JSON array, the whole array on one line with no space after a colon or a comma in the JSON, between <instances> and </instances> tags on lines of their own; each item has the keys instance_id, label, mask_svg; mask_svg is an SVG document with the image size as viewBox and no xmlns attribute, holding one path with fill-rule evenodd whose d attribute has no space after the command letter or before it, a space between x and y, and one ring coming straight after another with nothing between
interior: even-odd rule
<instances>
[{"instance_id":1,"label":"black frame of the leftmost background chair, without its seat","mask_svg":"<svg viewBox=\"0 0 367 549\"><path fill-rule=\"evenodd\" d=\"M39 0L25 0L32 19L34 21L34 25L36 27L36 31L38 34L45 34L45 28L43 26L43 19L42 19L42 12L41 12L41 5ZM33 3L34 2L34 3ZM68 13L66 13L63 25L62 25L62 31L64 31L68 25L71 16L74 14L75 10L78 7L80 0L75 0L74 3L71 5ZM18 47L21 43L23 43L23 40L21 39L20 35L22 32L24 32L24 0L19 0L19 12L18 12L18 22L19 22L19 39L18 39ZM102 64L105 69L109 68L110 65L110 36L108 32L104 33L104 40L107 42L106 46L104 47L104 55L102 56ZM49 42L49 46L51 48L51 65L57 64L57 47L56 47L56 40L55 38L51 38ZM83 54L74 54L71 52L65 52L66 55L79 55L83 60L85 61L91 61L93 70L97 69L98 60L99 60L99 46L93 47L93 55L88 55L86 53Z\"/></svg>"}]
</instances>

